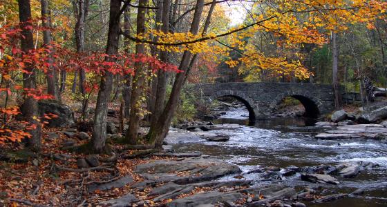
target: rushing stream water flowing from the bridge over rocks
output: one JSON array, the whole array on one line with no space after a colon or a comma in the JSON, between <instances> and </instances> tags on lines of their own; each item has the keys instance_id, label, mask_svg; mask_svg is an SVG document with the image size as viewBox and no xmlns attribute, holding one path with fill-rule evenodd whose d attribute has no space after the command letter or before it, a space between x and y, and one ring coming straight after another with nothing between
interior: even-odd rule
<instances>
[{"instance_id":1,"label":"rushing stream water flowing from the bridge over rocks","mask_svg":"<svg viewBox=\"0 0 387 207\"><path fill-rule=\"evenodd\" d=\"M245 178L254 180L256 185L281 182L296 189L321 186L326 195L350 193L357 188L375 188L361 197L349 197L325 204L310 203L308 206L387 206L387 144L366 139L314 139L317 132L330 128L314 126L314 120L302 118L275 118L249 124L247 115L247 110L232 108L213 121L214 124L234 126L232 130L211 131L229 135L229 141L196 139L176 144L173 148L219 157L237 164L243 172L265 166L283 169L290 166L334 165L344 161L370 161L379 164L379 167L364 170L355 178L337 177L340 181L337 186L301 181L299 173L283 177L281 181L262 181L262 173L245 175Z\"/></svg>"}]
</instances>

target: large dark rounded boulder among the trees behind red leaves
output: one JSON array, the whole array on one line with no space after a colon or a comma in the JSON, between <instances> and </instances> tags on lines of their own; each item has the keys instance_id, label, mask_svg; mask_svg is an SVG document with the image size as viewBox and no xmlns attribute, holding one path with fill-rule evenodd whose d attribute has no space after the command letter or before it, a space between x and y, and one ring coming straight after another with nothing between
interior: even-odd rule
<instances>
[{"instance_id":1,"label":"large dark rounded boulder among the trees behind red leaves","mask_svg":"<svg viewBox=\"0 0 387 207\"><path fill-rule=\"evenodd\" d=\"M75 124L74 112L70 108L57 101L39 101L39 116L43 117L42 121L47 121L48 127L70 127ZM44 118L44 115L57 115L52 119Z\"/></svg>"}]
</instances>

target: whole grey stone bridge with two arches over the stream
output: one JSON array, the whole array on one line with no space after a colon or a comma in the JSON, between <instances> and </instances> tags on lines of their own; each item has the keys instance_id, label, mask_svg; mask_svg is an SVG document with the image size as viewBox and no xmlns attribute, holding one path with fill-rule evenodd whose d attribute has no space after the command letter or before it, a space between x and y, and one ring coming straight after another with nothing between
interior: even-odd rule
<instances>
[{"instance_id":1,"label":"whole grey stone bridge with two arches over the stream","mask_svg":"<svg viewBox=\"0 0 387 207\"><path fill-rule=\"evenodd\" d=\"M285 97L298 99L305 116L320 117L334 110L332 86L314 83L202 83L196 86L201 98L214 101L234 97L249 110L249 119L270 115Z\"/></svg>"}]
</instances>

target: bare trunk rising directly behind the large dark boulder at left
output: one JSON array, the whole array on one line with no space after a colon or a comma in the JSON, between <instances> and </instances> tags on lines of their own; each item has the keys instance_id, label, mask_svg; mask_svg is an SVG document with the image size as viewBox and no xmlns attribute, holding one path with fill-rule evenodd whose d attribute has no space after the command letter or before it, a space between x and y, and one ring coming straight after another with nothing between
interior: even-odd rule
<instances>
[{"instance_id":1,"label":"bare trunk rising directly behind the large dark boulder at left","mask_svg":"<svg viewBox=\"0 0 387 207\"><path fill-rule=\"evenodd\" d=\"M43 23L42 25L46 28L51 28L51 12L48 8L48 1L47 0L41 0L41 17L43 17ZM52 41L52 36L50 30L44 30L43 31L43 41L44 45L48 46ZM50 49L50 55L48 59L48 63L50 64L48 68L48 72L46 73L46 79L47 79L47 93L49 95L53 95L55 100L60 99L59 95L59 84L57 79L57 70L53 66L54 63L54 57L53 57L53 49Z\"/></svg>"}]
</instances>

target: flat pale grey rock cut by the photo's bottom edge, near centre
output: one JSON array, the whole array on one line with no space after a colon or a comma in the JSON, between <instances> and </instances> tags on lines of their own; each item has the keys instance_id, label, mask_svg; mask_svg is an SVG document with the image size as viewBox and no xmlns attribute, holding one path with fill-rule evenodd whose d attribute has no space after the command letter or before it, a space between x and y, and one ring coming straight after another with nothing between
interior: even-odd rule
<instances>
[{"instance_id":1,"label":"flat pale grey rock cut by the photo's bottom edge, near centre","mask_svg":"<svg viewBox=\"0 0 387 207\"><path fill-rule=\"evenodd\" d=\"M217 202L237 201L242 197L243 195L240 193L220 193L216 191L210 191L207 193L198 193L190 197L173 200L169 204L167 204L167 206L193 207L198 206L200 204L216 204Z\"/></svg>"}]
</instances>

